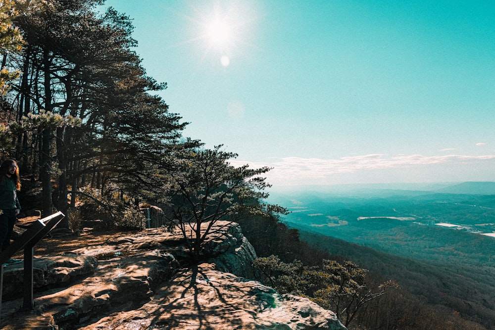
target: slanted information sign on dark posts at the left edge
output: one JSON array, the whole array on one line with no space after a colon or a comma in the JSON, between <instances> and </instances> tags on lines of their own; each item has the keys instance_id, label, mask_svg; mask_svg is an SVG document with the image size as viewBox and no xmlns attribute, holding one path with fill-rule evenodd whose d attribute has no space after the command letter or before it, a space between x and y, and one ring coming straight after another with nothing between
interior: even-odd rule
<instances>
[{"instance_id":1,"label":"slanted information sign on dark posts at the left edge","mask_svg":"<svg viewBox=\"0 0 495 330\"><path fill-rule=\"evenodd\" d=\"M3 294L3 264L17 251L24 248L24 301L22 308L34 309L33 298L33 254L34 246L45 237L65 217L62 212L54 213L46 218L34 221L5 251L0 254L0 313Z\"/></svg>"}]
</instances>

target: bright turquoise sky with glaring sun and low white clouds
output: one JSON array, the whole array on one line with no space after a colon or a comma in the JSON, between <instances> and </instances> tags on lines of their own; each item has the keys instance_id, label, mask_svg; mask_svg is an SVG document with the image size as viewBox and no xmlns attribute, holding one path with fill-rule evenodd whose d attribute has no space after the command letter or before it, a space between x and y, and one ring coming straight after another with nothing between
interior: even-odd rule
<instances>
[{"instance_id":1,"label":"bright turquoise sky with glaring sun and low white clouds","mask_svg":"<svg viewBox=\"0 0 495 330\"><path fill-rule=\"evenodd\" d=\"M495 1L107 0L159 95L274 186L495 181Z\"/></svg>"}]
</instances>

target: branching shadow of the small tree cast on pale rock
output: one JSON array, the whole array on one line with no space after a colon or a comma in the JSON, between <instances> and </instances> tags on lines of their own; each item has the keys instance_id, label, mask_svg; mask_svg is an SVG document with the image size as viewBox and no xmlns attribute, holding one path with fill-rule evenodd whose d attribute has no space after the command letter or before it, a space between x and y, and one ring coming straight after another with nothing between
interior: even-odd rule
<instances>
[{"instance_id":1,"label":"branching shadow of the small tree cast on pale rock","mask_svg":"<svg viewBox=\"0 0 495 330\"><path fill-rule=\"evenodd\" d=\"M256 313L264 304L253 296L258 291L253 291L251 283L213 271L211 265L193 266L157 292L154 299L163 301L150 312L151 325L159 329L254 329Z\"/></svg>"}]
</instances>

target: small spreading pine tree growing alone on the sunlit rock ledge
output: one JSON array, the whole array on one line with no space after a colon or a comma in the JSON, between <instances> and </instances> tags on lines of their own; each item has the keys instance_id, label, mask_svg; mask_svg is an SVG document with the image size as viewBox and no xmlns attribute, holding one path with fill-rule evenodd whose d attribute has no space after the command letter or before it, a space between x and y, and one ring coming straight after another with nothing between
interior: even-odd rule
<instances>
[{"instance_id":1,"label":"small spreading pine tree growing alone on the sunlit rock ledge","mask_svg":"<svg viewBox=\"0 0 495 330\"><path fill-rule=\"evenodd\" d=\"M206 237L218 221L266 215L268 209L283 211L262 202L268 196L263 190L269 185L260 175L269 168L234 167L228 161L237 155L221 147L184 149L174 154L168 219L180 228L194 258L199 257Z\"/></svg>"}]
</instances>

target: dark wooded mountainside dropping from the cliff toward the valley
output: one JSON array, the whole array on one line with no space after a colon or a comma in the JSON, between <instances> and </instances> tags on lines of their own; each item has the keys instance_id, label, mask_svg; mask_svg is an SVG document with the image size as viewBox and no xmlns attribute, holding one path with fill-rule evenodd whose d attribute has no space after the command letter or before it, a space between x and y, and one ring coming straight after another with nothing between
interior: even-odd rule
<instances>
[{"instance_id":1,"label":"dark wooded mountainside dropping from the cliff toward the valley","mask_svg":"<svg viewBox=\"0 0 495 330\"><path fill-rule=\"evenodd\" d=\"M323 259L341 264L350 260L370 270L361 283L370 291L387 281L399 284L363 305L348 329L492 329L491 272L478 274L468 265L414 260L307 230L299 232L277 218L253 218L241 225L259 257L277 255L287 263L284 267L290 268L295 260L318 268ZM296 264L292 267L300 267Z\"/></svg>"}]
</instances>

